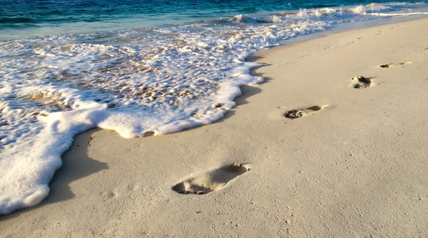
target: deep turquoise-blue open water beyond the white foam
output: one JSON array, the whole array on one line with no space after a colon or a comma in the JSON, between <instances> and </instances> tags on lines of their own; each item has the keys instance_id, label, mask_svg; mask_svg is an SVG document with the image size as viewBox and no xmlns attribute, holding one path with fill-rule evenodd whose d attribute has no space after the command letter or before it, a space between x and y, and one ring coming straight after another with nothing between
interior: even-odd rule
<instances>
[{"instance_id":1,"label":"deep turquoise-blue open water beyond the white foam","mask_svg":"<svg viewBox=\"0 0 428 238\"><path fill-rule=\"evenodd\" d=\"M1 0L0 37L171 26L190 24L198 20L228 18L239 14L292 12L299 9L387 2L389 1Z\"/></svg>"}]
</instances>

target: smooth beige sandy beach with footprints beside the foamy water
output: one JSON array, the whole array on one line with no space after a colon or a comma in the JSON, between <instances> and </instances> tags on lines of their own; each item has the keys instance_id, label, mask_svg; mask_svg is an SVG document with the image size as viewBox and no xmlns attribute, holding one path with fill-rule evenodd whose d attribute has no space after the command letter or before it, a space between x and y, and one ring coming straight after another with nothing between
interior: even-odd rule
<instances>
[{"instance_id":1,"label":"smooth beige sandy beach with footprints beside the foamy water","mask_svg":"<svg viewBox=\"0 0 428 238\"><path fill-rule=\"evenodd\" d=\"M419 19L262 51L215 124L78 135L0 237L427 237L427 47Z\"/></svg>"}]
</instances>

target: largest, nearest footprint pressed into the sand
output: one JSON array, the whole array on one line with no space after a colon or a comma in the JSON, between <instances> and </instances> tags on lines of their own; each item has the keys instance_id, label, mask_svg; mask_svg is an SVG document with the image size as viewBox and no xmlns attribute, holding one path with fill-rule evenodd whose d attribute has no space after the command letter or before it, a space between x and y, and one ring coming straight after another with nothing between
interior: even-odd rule
<instances>
[{"instance_id":1,"label":"largest, nearest footprint pressed into the sand","mask_svg":"<svg viewBox=\"0 0 428 238\"><path fill-rule=\"evenodd\" d=\"M208 194L249 170L248 164L228 164L175 184L172 189L180 194Z\"/></svg>"}]
</instances>

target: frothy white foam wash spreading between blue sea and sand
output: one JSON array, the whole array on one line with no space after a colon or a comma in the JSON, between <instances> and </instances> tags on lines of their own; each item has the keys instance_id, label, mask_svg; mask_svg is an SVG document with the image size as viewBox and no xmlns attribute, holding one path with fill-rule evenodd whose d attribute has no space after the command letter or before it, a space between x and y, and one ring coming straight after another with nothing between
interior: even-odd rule
<instances>
[{"instance_id":1,"label":"frothy white foam wash spreading between blue sea and sand","mask_svg":"<svg viewBox=\"0 0 428 238\"><path fill-rule=\"evenodd\" d=\"M0 41L0 214L49 194L79 132L100 127L131 138L210 124L235 105L240 86L263 81L249 74L260 66L245 62L253 51L394 7Z\"/></svg>"}]
</instances>

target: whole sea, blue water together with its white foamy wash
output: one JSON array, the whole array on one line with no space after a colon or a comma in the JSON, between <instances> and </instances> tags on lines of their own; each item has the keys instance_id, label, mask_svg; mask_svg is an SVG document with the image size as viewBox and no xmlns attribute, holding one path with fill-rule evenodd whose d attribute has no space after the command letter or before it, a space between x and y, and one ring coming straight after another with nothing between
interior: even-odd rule
<instances>
[{"instance_id":1,"label":"whole sea, blue water together with its white foamy wash","mask_svg":"<svg viewBox=\"0 0 428 238\"><path fill-rule=\"evenodd\" d=\"M73 136L179 132L258 84L254 51L343 24L427 14L427 1L0 0L0 214L30 207ZM285 41L286 42L286 41Z\"/></svg>"}]
</instances>

